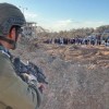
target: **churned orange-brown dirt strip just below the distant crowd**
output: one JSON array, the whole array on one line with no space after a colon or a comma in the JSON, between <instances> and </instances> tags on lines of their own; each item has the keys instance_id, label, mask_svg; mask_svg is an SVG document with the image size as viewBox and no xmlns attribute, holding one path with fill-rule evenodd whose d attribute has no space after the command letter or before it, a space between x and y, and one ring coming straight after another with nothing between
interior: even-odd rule
<instances>
[{"instance_id":1,"label":"churned orange-brown dirt strip just below the distant crowd","mask_svg":"<svg viewBox=\"0 0 109 109\"><path fill-rule=\"evenodd\" d=\"M84 45L46 45L46 52L69 62L109 68L109 47Z\"/></svg>"}]
</instances>

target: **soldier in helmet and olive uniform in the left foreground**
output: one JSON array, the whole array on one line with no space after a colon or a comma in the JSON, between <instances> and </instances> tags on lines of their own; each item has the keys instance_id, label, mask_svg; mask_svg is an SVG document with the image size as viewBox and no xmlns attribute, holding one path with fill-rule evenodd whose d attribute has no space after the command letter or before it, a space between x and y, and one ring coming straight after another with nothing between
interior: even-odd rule
<instances>
[{"instance_id":1,"label":"soldier in helmet and olive uniform in the left foreground","mask_svg":"<svg viewBox=\"0 0 109 109\"><path fill-rule=\"evenodd\" d=\"M19 8L0 3L0 109L37 109L41 102L39 88L44 84L22 81L9 51L16 48L24 24L25 17Z\"/></svg>"}]
</instances>

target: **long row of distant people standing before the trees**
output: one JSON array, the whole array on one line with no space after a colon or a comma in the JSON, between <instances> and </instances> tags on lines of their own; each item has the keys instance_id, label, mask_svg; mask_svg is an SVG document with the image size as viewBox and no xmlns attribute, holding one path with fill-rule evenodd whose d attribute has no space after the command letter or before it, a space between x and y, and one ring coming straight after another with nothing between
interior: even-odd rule
<instances>
[{"instance_id":1,"label":"long row of distant people standing before the trees","mask_svg":"<svg viewBox=\"0 0 109 109\"><path fill-rule=\"evenodd\" d=\"M50 38L44 41L45 44L59 44L59 45L106 45L108 46L109 39L101 37L101 35L92 35L87 37L75 38Z\"/></svg>"}]
</instances>

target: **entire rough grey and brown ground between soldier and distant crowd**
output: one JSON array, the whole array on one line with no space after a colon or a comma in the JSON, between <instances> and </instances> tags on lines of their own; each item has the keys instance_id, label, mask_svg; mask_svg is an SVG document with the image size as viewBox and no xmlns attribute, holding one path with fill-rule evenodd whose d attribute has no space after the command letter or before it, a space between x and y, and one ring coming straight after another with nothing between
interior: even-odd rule
<instances>
[{"instance_id":1,"label":"entire rough grey and brown ground between soldier and distant crowd","mask_svg":"<svg viewBox=\"0 0 109 109\"><path fill-rule=\"evenodd\" d=\"M40 109L109 109L109 48L21 41L12 51L40 66L49 84Z\"/></svg>"}]
</instances>

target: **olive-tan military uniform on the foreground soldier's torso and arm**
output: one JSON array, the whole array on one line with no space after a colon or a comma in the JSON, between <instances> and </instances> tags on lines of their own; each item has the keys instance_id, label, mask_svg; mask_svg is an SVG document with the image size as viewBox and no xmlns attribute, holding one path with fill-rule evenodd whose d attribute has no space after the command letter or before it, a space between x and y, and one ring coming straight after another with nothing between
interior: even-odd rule
<instances>
[{"instance_id":1,"label":"olive-tan military uniform on the foreground soldier's torso and arm","mask_svg":"<svg viewBox=\"0 0 109 109\"><path fill-rule=\"evenodd\" d=\"M8 52L0 50L0 109L37 109L41 93L16 75Z\"/></svg>"}]
</instances>

